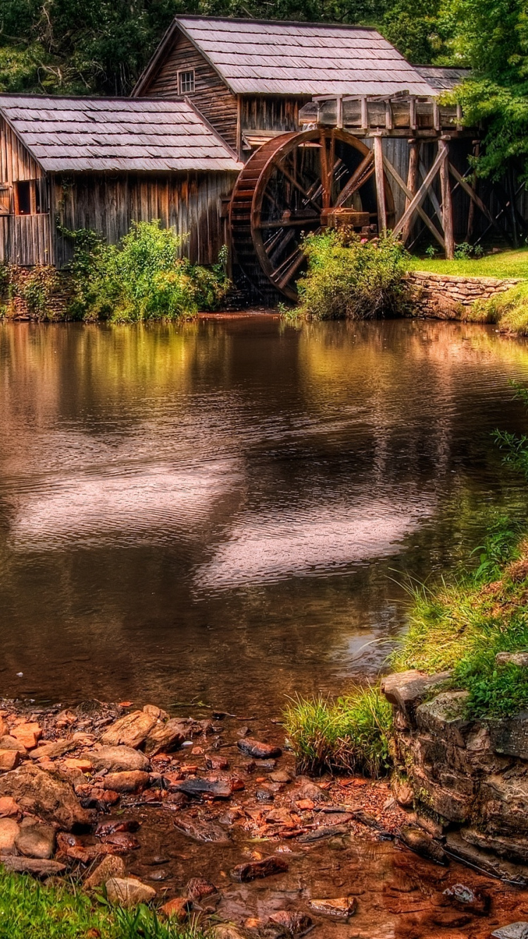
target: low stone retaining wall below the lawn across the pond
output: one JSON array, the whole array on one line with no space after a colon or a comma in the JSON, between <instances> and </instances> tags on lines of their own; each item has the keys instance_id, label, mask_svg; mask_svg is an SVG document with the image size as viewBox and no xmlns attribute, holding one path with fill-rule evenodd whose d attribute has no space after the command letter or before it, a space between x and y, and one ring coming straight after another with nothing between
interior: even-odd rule
<instances>
[{"instance_id":1,"label":"low stone retaining wall below the lawn across the pond","mask_svg":"<svg viewBox=\"0 0 528 939\"><path fill-rule=\"evenodd\" d=\"M475 300L489 300L520 283L520 278L458 277L413 270L406 275L421 316L460 319Z\"/></svg>"}]
</instances>

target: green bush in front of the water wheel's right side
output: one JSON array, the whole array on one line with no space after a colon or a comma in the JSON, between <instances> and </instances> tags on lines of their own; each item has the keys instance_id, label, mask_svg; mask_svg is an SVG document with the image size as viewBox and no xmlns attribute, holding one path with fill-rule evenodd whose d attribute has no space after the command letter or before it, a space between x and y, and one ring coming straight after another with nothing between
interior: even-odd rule
<instances>
[{"instance_id":1,"label":"green bush in front of the water wheel's right side","mask_svg":"<svg viewBox=\"0 0 528 939\"><path fill-rule=\"evenodd\" d=\"M303 252L308 270L298 282L300 316L369 319L406 311L405 249L398 239L368 241L330 230L304 239Z\"/></svg>"}]
</instances>

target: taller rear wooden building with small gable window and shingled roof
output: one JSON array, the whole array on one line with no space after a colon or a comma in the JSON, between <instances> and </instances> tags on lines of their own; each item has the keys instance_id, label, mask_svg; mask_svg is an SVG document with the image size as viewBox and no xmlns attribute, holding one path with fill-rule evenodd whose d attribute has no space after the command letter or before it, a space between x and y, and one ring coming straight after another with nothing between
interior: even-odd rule
<instances>
[{"instance_id":1,"label":"taller rear wooden building with small gable window and shingled roof","mask_svg":"<svg viewBox=\"0 0 528 939\"><path fill-rule=\"evenodd\" d=\"M179 16L132 95L184 94L245 160L273 136L297 131L299 109L314 95L402 90L434 94L375 29Z\"/></svg>"}]
</instances>

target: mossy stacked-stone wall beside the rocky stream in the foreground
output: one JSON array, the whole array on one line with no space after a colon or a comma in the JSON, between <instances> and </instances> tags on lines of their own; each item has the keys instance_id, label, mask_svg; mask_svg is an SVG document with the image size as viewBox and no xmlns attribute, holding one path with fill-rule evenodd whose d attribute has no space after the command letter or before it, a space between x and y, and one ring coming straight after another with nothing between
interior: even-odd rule
<instances>
[{"instance_id":1,"label":"mossy stacked-stone wall beside the rocky stream in the foreground","mask_svg":"<svg viewBox=\"0 0 528 939\"><path fill-rule=\"evenodd\" d=\"M434 856L428 837L446 856L528 885L528 712L468 719L468 693L442 690L447 678L406 671L381 684L394 709L396 798L414 809L411 840Z\"/></svg>"}]
</instances>

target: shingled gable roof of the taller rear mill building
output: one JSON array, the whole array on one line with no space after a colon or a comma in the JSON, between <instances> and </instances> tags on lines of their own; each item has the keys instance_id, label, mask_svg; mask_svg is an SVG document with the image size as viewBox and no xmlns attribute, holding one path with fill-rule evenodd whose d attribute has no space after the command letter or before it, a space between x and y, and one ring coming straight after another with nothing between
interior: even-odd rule
<instances>
[{"instance_id":1,"label":"shingled gable roof of the taller rear mill building","mask_svg":"<svg viewBox=\"0 0 528 939\"><path fill-rule=\"evenodd\" d=\"M200 16L175 19L132 94L141 94L178 31L235 94L434 94L375 29Z\"/></svg>"}]
</instances>

